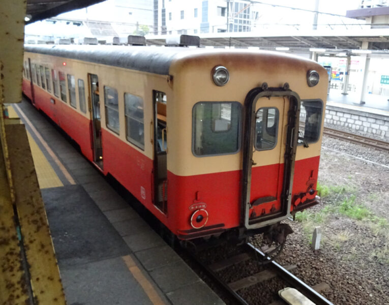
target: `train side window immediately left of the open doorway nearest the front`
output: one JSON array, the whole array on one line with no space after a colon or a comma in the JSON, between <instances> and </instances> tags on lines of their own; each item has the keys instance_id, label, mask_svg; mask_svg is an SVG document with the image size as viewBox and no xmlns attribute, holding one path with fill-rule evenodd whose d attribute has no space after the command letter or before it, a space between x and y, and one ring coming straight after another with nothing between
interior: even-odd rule
<instances>
[{"instance_id":1,"label":"train side window immediately left of the open doorway nearest the front","mask_svg":"<svg viewBox=\"0 0 389 305\"><path fill-rule=\"evenodd\" d=\"M124 94L126 138L130 143L144 149L143 99L130 93Z\"/></svg>"}]
</instances>

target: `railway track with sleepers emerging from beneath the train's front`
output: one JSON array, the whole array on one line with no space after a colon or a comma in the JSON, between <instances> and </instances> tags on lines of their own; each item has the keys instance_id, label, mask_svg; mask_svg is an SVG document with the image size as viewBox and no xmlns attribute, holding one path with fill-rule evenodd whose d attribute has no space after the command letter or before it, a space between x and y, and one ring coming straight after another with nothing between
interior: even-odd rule
<instances>
[{"instance_id":1,"label":"railway track with sleepers emerging from beneath the train's front","mask_svg":"<svg viewBox=\"0 0 389 305\"><path fill-rule=\"evenodd\" d=\"M322 295L320 295L320 291L329 288L329 286L325 283L320 283L315 285L314 287L310 287L308 284L304 283L297 277L295 277L290 270L296 268L295 265L286 265L281 266L273 260L267 258L260 250L255 248L251 243L246 243L245 245L240 246L239 251L232 256L229 256L226 259L222 259L212 264L204 263L203 259L197 256L194 253L189 253L192 258L195 259L197 264L201 267L202 270L207 273L207 275L215 281L220 288L226 291L231 298L238 304L241 305L251 305L254 303L250 303L245 300L244 297L239 293L242 289L250 289L253 285L256 284L265 284L266 281L277 279L277 281L282 281L286 283L288 287L294 288L302 293L306 298L311 300L316 305L333 305L332 302L325 299ZM260 270L255 274L252 274L247 277L243 277L241 279L235 279L231 282L226 283L223 280L222 272L227 268L232 268L243 262L248 262L252 260L251 264L247 264L247 266L260 265ZM284 285L285 286L285 285ZM263 304L268 305L285 305L286 301L282 300L281 297L278 296L276 291L269 291L272 294L272 298L278 297L276 300L272 300L271 302L264 302ZM255 302L255 304L261 304Z\"/></svg>"}]
</instances>

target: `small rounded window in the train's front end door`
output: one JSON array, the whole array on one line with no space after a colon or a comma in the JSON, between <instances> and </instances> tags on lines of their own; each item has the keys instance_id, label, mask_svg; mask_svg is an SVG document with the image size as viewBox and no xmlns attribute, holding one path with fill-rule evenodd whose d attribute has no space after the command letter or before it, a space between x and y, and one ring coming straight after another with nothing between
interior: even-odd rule
<instances>
[{"instance_id":1,"label":"small rounded window in the train's front end door","mask_svg":"<svg viewBox=\"0 0 389 305\"><path fill-rule=\"evenodd\" d=\"M277 145L279 111L274 107L259 108L255 120L255 148L273 149Z\"/></svg>"}]
</instances>

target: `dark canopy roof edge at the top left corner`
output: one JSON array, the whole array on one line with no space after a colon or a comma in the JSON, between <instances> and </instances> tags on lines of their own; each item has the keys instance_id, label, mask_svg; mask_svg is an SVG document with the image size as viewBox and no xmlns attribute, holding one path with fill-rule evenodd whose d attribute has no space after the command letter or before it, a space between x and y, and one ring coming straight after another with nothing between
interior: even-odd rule
<instances>
[{"instance_id":1,"label":"dark canopy roof edge at the top left corner","mask_svg":"<svg viewBox=\"0 0 389 305\"><path fill-rule=\"evenodd\" d=\"M65 12L86 8L104 0L27 0L26 23L47 19ZM26 19L26 20L27 20Z\"/></svg>"}]
</instances>

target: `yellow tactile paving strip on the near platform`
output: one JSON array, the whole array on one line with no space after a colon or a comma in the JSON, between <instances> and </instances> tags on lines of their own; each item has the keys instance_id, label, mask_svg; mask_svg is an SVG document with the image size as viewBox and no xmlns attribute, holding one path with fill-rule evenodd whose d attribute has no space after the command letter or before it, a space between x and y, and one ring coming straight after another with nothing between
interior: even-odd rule
<instances>
[{"instance_id":1,"label":"yellow tactile paving strip on the near platform","mask_svg":"<svg viewBox=\"0 0 389 305\"><path fill-rule=\"evenodd\" d=\"M12 106L9 105L7 109L10 118L19 117ZM35 142L34 138L28 131L27 136L31 153L33 155L35 171L38 176L39 187L41 189L63 187L64 184L61 179L59 179L47 158L42 153L42 150L39 148L37 142Z\"/></svg>"}]
</instances>

